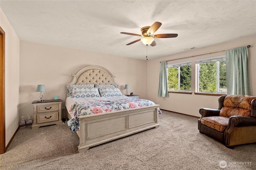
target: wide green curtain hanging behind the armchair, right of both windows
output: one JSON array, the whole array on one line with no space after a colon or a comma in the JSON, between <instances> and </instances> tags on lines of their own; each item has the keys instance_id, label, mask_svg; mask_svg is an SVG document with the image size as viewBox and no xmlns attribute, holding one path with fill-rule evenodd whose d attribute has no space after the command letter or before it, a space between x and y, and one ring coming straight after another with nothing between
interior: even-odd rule
<instances>
[{"instance_id":1,"label":"wide green curtain hanging behind the armchair, right of both windows","mask_svg":"<svg viewBox=\"0 0 256 170\"><path fill-rule=\"evenodd\" d=\"M226 79L227 95L250 95L246 46L226 50Z\"/></svg>"}]
</instances>

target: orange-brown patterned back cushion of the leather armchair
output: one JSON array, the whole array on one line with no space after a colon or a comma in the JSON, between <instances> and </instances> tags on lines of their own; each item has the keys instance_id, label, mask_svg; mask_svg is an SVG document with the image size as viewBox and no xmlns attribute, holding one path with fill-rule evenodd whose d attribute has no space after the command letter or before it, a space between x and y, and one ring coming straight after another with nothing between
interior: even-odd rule
<instances>
[{"instance_id":1,"label":"orange-brown patterned back cushion of the leather armchair","mask_svg":"<svg viewBox=\"0 0 256 170\"><path fill-rule=\"evenodd\" d=\"M223 107L220 110L220 116L244 116L251 115L251 102L255 99L252 96L246 95L229 95L226 96L223 102Z\"/></svg>"}]
</instances>

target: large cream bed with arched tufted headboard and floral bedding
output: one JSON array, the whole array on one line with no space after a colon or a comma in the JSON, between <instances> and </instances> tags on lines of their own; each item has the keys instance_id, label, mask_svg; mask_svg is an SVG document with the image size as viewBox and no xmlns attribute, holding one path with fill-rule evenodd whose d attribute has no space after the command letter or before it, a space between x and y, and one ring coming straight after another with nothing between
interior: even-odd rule
<instances>
[{"instance_id":1,"label":"large cream bed with arched tufted headboard and floral bedding","mask_svg":"<svg viewBox=\"0 0 256 170\"><path fill-rule=\"evenodd\" d=\"M149 100L132 99L120 94L119 85L114 80L115 76L106 68L88 66L72 76L72 81L66 86L66 109L68 126L80 139L79 152L159 126L158 114L161 113L159 105ZM90 96L86 96L88 93L81 93L80 88L84 90L83 88L87 86L90 86ZM96 94L95 88L102 96ZM117 92L113 96L108 90ZM95 101L98 104L97 108L104 105L103 109L95 110ZM113 105L114 101L119 104Z\"/></svg>"}]
</instances>

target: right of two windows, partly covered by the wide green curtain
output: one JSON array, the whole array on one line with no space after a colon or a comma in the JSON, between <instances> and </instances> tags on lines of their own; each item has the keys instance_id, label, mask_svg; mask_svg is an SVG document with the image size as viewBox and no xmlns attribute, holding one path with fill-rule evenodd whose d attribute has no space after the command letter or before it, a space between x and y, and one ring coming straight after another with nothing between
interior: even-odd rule
<instances>
[{"instance_id":1,"label":"right of two windows, partly covered by the wide green curtain","mask_svg":"<svg viewBox=\"0 0 256 170\"><path fill-rule=\"evenodd\" d=\"M197 92L226 94L225 55L196 60Z\"/></svg>"}]
</instances>

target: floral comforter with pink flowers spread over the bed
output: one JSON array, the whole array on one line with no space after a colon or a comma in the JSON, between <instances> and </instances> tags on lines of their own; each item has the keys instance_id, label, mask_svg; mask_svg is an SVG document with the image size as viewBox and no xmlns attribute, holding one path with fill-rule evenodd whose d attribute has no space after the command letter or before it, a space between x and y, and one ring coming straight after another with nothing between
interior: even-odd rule
<instances>
[{"instance_id":1,"label":"floral comforter with pink flowers spread over the bed","mask_svg":"<svg viewBox=\"0 0 256 170\"><path fill-rule=\"evenodd\" d=\"M118 100L93 100L86 102L74 102L70 106L70 112L73 118L68 121L68 127L71 132L74 133L79 130L79 118L82 115L92 115L98 113L105 113L108 111L116 111L123 109L130 109L135 107L144 107L155 105L154 102L144 99L134 98L121 98ZM161 114L161 110L158 108L158 113Z\"/></svg>"}]
</instances>

